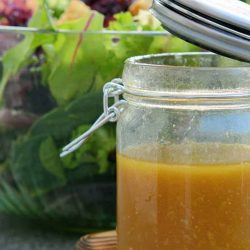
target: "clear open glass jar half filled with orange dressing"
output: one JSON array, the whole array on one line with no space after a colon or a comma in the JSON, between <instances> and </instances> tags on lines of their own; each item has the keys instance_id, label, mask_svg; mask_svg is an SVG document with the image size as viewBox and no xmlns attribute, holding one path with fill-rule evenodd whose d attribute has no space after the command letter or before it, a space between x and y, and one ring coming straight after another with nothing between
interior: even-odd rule
<instances>
[{"instance_id":1,"label":"clear open glass jar half filled with orange dressing","mask_svg":"<svg viewBox=\"0 0 250 250\"><path fill-rule=\"evenodd\" d=\"M212 53L126 61L118 249L250 249L250 66Z\"/></svg>"}]
</instances>

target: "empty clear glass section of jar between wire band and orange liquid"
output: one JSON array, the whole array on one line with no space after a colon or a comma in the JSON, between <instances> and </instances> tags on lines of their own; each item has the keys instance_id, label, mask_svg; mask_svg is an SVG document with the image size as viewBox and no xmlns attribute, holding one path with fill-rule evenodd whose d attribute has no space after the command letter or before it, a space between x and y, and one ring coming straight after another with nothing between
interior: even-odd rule
<instances>
[{"instance_id":1,"label":"empty clear glass section of jar between wire band and orange liquid","mask_svg":"<svg viewBox=\"0 0 250 250\"><path fill-rule=\"evenodd\" d=\"M177 110L127 105L117 124L118 150L137 144L250 144L250 109Z\"/></svg>"}]
</instances>

